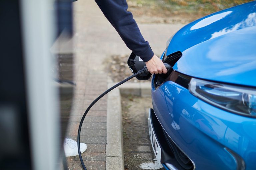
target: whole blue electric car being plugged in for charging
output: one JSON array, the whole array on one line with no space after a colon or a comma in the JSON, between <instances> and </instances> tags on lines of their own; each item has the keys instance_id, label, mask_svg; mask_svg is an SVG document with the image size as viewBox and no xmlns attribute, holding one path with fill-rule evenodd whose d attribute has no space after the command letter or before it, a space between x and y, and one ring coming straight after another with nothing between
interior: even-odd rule
<instances>
[{"instance_id":1,"label":"whole blue electric car being plugged in for charging","mask_svg":"<svg viewBox=\"0 0 256 170\"><path fill-rule=\"evenodd\" d=\"M152 79L149 133L167 170L256 170L256 1L180 29Z\"/></svg>"}]
</instances>

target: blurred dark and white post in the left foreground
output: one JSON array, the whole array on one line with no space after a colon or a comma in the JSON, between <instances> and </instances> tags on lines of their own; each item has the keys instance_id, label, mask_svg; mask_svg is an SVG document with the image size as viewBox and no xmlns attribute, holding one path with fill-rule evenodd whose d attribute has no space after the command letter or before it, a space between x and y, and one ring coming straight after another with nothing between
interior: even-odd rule
<instances>
[{"instance_id":1,"label":"blurred dark and white post in the left foreground","mask_svg":"<svg viewBox=\"0 0 256 170\"><path fill-rule=\"evenodd\" d=\"M2 0L0 11L0 169L59 169L74 83L72 43L57 49L72 38L72 2Z\"/></svg>"}]
</instances>

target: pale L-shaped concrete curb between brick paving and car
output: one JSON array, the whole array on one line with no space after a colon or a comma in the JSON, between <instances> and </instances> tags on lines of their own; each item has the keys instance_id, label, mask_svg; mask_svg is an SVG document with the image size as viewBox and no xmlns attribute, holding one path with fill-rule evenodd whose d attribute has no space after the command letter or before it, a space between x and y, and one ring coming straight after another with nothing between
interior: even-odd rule
<instances>
[{"instance_id":1,"label":"pale L-shaped concrete curb between brick paving and car","mask_svg":"<svg viewBox=\"0 0 256 170\"><path fill-rule=\"evenodd\" d=\"M113 83L109 79L108 88ZM106 170L124 170L121 94L150 96L150 83L124 83L108 94Z\"/></svg>"}]
</instances>

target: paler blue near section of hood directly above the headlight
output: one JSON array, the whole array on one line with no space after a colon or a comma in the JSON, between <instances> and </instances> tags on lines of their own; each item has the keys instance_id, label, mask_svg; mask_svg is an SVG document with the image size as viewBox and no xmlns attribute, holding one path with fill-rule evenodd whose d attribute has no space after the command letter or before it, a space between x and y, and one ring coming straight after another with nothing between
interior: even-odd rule
<instances>
[{"instance_id":1,"label":"paler blue near section of hood directly above the headlight","mask_svg":"<svg viewBox=\"0 0 256 170\"><path fill-rule=\"evenodd\" d=\"M256 86L256 26L188 48L174 70L202 79Z\"/></svg>"}]
</instances>

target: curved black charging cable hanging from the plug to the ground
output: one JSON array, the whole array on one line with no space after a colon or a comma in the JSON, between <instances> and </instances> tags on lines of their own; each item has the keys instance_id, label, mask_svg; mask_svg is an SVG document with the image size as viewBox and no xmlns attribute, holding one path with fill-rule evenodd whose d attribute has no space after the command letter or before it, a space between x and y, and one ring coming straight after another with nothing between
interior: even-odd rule
<instances>
[{"instance_id":1,"label":"curved black charging cable hanging from the plug to the ground","mask_svg":"<svg viewBox=\"0 0 256 170\"><path fill-rule=\"evenodd\" d=\"M137 76L139 74L138 73L135 73L133 75L131 75L130 77L128 77L127 79L117 83L116 85L112 86L111 88L109 88L108 90L106 90L104 93L102 93L99 97L97 97L91 104L90 106L86 109L86 111L84 112L84 115L81 119L81 122L80 122L80 125L79 125L79 128L78 128L78 133L77 133L77 147L78 147L78 155L79 155L79 159L80 159L80 162L82 164L82 167L84 170L87 170L85 165L84 165L84 161L83 161L83 158L82 158L82 155L81 155L81 150L80 150L80 132L81 132L81 128L82 128L82 125L83 125L83 122L84 122L84 118L85 116L87 115L87 113L89 112L89 110L91 109L91 107L98 101L100 100L103 96L105 96L108 92L110 92L111 90L113 90L114 88L120 86L121 84L127 82L128 80L132 79L133 77Z\"/></svg>"}]
</instances>

